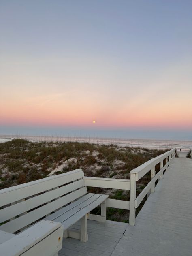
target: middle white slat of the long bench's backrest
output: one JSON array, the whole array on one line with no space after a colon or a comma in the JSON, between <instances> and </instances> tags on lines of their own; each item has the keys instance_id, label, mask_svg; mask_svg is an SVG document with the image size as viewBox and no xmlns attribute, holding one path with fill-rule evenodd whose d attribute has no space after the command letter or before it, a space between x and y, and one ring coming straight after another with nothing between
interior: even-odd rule
<instances>
[{"instance_id":1,"label":"middle white slat of the long bench's backrest","mask_svg":"<svg viewBox=\"0 0 192 256\"><path fill-rule=\"evenodd\" d=\"M38 196L34 196L33 198L30 198L26 201L22 201L15 205L11 205L9 207L1 209L0 210L0 223L4 222L6 220L9 220L21 213L29 211L30 209L34 209L35 207L37 207L39 205L43 205L44 203L47 203L55 198L58 198L64 194L67 194L73 190L79 189L83 186L85 186L85 182L83 179L80 179L80 180L70 183L66 186L57 188L55 190L51 190L49 192L46 192L46 193L38 195Z\"/></svg>"}]
</instances>

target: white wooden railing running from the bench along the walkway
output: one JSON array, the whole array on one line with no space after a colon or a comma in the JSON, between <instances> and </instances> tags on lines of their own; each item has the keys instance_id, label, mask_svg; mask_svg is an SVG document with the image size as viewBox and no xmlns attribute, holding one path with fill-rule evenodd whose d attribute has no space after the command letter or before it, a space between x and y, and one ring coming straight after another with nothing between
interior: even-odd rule
<instances>
[{"instance_id":1,"label":"white wooden railing running from the bench along the walkway","mask_svg":"<svg viewBox=\"0 0 192 256\"><path fill-rule=\"evenodd\" d=\"M107 207L130 210L129 224L134 226L136 208L139 207L140 203L143 201L146 195L149 196L150 193L153 193L155 191L155 182L163 178L164 171L168 169L169 164L175 157L175 152L175 148L171 149L170 151L160 156L157 156L156 158L153 158L148 162L140 165L139 167L133 169L132 171L130 171L130 179L84 177L85 185L88 187L130 190L130 201L108 198L106 204ZM155 166L159 163L160 171L156 174ZM139 179L141 179L149 171L151 171L151 181L136 198L137 181L139 181ZM90 215L89 218L97 220L94 216Z\"/></svg>"}]
</instances>

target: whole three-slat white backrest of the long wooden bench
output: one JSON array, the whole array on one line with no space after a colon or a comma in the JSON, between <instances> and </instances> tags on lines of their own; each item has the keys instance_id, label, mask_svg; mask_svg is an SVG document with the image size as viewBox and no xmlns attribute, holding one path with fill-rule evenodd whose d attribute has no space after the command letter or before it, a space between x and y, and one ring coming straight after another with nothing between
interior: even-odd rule
<instances>
[{"instance_id":1,"label":"whole three-slat white backrest of the long wooden bench","mask_svg":"<svg viewBox=\"0 0 192 256\"><path fill-rule=\"evenodd\" d=\"M83 177L77 169L0 190L0 230L21 231L87 194Z\"/></svg>"}]
</instances>

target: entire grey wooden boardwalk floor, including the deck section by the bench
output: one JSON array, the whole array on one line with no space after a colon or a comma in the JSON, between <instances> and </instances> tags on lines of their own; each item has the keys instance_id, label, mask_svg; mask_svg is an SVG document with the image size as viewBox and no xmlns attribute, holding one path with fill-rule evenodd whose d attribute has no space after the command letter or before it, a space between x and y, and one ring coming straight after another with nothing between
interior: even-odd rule
<instances>
[{"instance_id":1,"label":"entire grey wooden boardwalk floor, including the deck section by the bench","mask_svg":"<svg viewBox=\"0 0 192 256\"><path fill-rule=\"evenodd\" d=\"M179 156L145 202L135 226L89 221L89 241L64 239L59 255L191 256L192 159L182 152Z\"/></svg>"}]
</instances>

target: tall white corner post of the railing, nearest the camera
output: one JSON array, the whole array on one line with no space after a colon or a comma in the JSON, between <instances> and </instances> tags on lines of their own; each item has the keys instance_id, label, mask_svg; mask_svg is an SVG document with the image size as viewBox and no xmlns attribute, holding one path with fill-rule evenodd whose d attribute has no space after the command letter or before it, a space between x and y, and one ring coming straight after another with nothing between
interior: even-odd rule
<instances>
[{"instance_id":1,"label":"tall white corner post of the railing, nearest the camera","mask_svg":"<svg viewBox=\"0 0 192 256\"><path fill-rule=\"evenodd\" d=\"M136 181L135 173L130 173L130 210L129 210L129 224L135 225L135 199L136 199Z\"/></svg>"}]
</instances>

